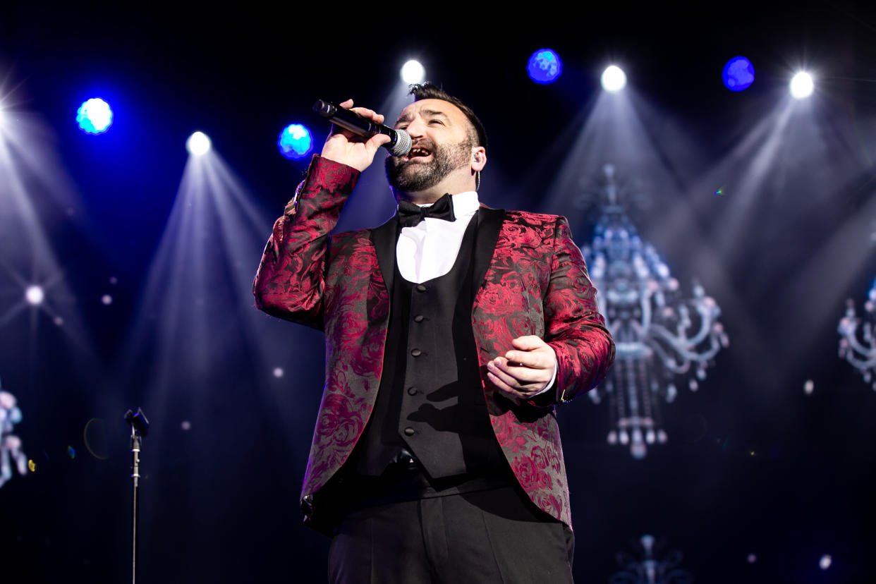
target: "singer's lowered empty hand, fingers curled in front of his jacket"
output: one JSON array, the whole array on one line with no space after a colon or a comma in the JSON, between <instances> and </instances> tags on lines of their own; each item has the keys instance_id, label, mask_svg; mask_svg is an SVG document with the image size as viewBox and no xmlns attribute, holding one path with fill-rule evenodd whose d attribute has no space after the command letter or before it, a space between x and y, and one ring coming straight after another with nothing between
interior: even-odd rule
<instances>
[{"instance_id":1,"label":"singer's lowered empty hand, fingers curled in front of his jacket","mask_svg":"<svg viewBox=\"0 0 876 584\"><path fill-rule=\"evenodd\" d=\"M487 363L487 377L499 391L513 398L532 399L554 378L556 353L534 334L511 341L514 349Z\"/></svg>"}]
</instances>

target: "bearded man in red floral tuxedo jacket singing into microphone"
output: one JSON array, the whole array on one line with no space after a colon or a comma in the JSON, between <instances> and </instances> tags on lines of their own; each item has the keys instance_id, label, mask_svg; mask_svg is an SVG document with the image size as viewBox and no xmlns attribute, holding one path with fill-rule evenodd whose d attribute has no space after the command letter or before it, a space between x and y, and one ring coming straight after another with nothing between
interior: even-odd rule
<instances>
[{"instance_id":1,"label":"bearded man in red floral tuxedo jacket singing into microphone","mask_svg":"<svg viewBox=\"0 0 876 584\"><path fill-rule=\"evenodd\" d=\"M484 127L440 88L411 94L395 128L413 146L385 163L396 215L329 235L390 140L336 129L253 285L326 337L305 521L333 537L333 582L569 582L555 405L603 379L611 335L568 222L481 205Z\"/></svg>"}]
</instances>

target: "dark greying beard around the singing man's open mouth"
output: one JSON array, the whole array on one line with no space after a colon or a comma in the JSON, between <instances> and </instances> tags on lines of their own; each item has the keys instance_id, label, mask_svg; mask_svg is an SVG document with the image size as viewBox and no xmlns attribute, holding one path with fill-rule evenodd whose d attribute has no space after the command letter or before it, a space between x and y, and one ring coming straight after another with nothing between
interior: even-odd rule
<instances>
[{"instance_id":1,"label":"dark greying beard around the singing man's open mouth","mask_svg":"<svg viewBox=\"0 0 876 584\"><path fill-rule=\"evenodd\" d=\"M450 172L469 164L471 140L459 144L434 144L429 140L420 140L414 146L431 151L432 159L418 162L416 158L420 157L402 159L390 155L385 160L386 179L402 193L417 193L432 188Z\"/></svg>"}]
</instances>

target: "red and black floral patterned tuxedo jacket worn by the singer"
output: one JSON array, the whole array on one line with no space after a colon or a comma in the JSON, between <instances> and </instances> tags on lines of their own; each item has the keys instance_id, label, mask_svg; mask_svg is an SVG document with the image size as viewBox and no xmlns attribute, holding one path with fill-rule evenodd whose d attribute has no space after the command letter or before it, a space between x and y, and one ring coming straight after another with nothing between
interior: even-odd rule
<instances>
[{"instance_id":1,"label":"red and black floral patterned tuxedo jacket worn by the singer","mask_svg":"<svg viewBox=\"0 0 876 584\"><path fill-rule=\"evenodd\" d=\"M326 385L301 490L305 521L318 531L329 531L332 515L321 510L321 503L330 505L321 489L350 456L371 415L389 324L383 274L392 272L394 229L385 243L376 237L381 228L329 236L358 176L350 166L314 157L307 179L274 223L253 283L259 309L325 333ZM603 379L614 344L568 222L556 215L484 211L498 214L498 221L471 326L487 409L520 486L540 509L571 526L555 404ZM478 237L481 231L490 233L479 227ZM383 270L380 246L392 247ZM518 403L492 386L486 363L524 334L548 341L559 369L552 391Z\"/></svg>"}]
</instances>

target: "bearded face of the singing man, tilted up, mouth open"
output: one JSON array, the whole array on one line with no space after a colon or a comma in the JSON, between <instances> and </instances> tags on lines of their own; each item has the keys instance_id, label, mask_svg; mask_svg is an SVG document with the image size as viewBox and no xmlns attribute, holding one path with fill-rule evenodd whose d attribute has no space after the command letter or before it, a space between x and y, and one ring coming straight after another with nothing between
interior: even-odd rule
<instances>
[{"instance_id":1,"label":"bearded face of the singing man, tilted up, mouth open","mask_svg":"<svg viewBox=\"0 0 876 584\"><path fill-rule=\"evenodd\" d=\"M401 112L397 130L411 135L405 156L386 157L386 178L403 193L425 191L471 163L469 120L455 105L437 99L413 102Z\"/></svg>"}]
</instances>

